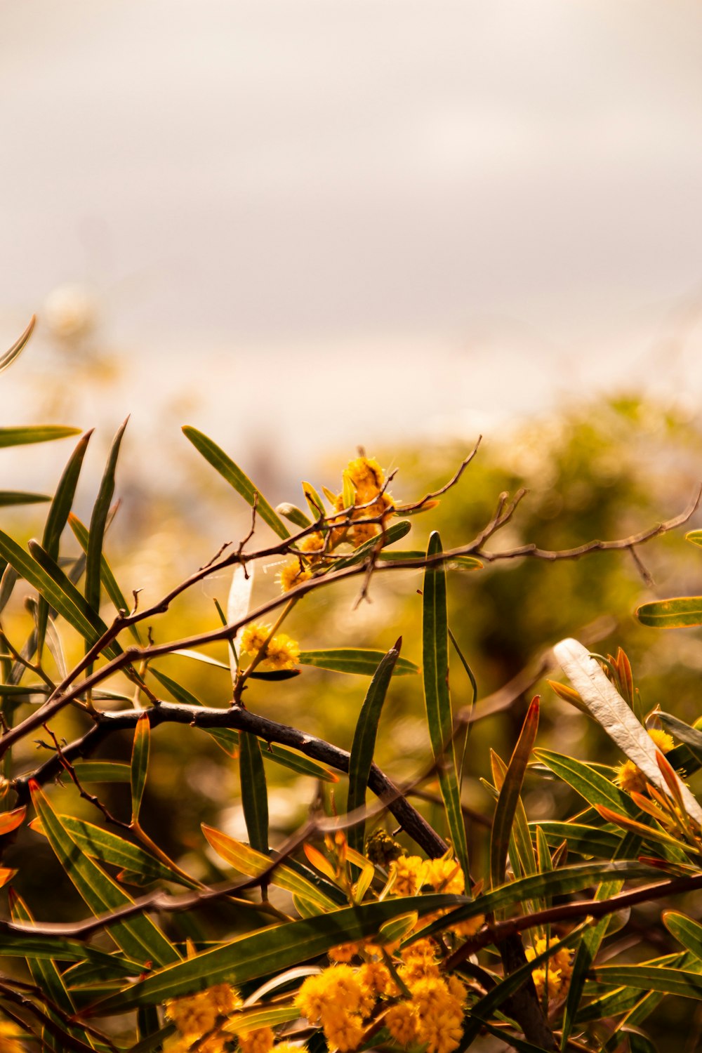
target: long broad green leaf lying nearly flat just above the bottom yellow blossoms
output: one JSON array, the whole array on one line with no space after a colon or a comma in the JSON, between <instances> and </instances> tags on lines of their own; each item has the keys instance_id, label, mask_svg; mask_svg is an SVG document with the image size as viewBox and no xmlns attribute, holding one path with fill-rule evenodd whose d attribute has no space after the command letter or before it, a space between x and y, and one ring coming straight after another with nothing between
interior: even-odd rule
<instances>
[{"instance_id":1,"label":"long broad green leaf lying nearly flat just above the bottom yellow blossoms","mask_svg":"<svg viewBox=\"0 0 702 1053\"><path fill-rule=\"evenodd\" d=\"M241 986L270 973L279 973L301 961L325 954L340 942L356 942L378 933L381 925L415 910L419 916L450 909L464 901L461 896L434 893L400 896L382 902L345 907L314 918L303 918L239 936L228 943L204 951L176 966L131 984L93 1007L97 1015L122 1013L137 1006L159 1005L202 991L215 984Z\"/></svg>"}]
</instances>

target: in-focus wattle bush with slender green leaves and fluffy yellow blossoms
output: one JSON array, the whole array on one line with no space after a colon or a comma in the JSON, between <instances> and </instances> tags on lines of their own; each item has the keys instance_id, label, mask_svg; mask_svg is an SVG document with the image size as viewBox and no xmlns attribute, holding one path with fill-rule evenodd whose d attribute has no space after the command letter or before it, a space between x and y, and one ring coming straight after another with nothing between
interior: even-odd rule
<instances>
[{"instance_id":1,"label":"in-focus wattle bush with slender green leaves and fluffy yellow blossoms","mask_svg":"<svg viewBox=\"0 0 702 1053\"><path fill-rule=\"evenodd\" d=\"M644 704L621 649L593 656L566 638L531 679L560 665L567 682L553 691L606 733L618 762L537 746L535 696L474 763L472 664L485 659L466 654L446 580L456 577L463 597L494 602L495 634L516 589L519 602L531 598L537 573L567 568L561 582L577 595L590 553L638 552L685 517L617 539L599 508L598 534L609 540L547 549L515 536L521 493L510 486L514 496L490 512L474 509L466 540L466 519L450 509L477 450L445 485L414 500L394 499L392 480L361 453L338 489L303 483L304 509L276 509L212 439L183 431L206 471L248 504L250 531L212 558L198 554L207 561L155 602L140 604L136 591L127 600L105 555L124 426L87 524L72 510L89 433L52 496L0 493L2 505L48 506L41 542L20 543L22 528L17 537L0 531L0 879L8 893L0 1051L655 1049L642 1028L656 1030L662 999L702 997L702 926L684 912L702 889L702 810L685 781L702 762L702 732L667 712L673 702ZM0 446L75 434L0 429ZM542 510L553 509L557 483ZM545 518L558 522L558 514ZM436 529L426 543L408 542L421 541L422 521L440 523L452 547ZM699 532L689 539L699 543ZM253 604L255 569L270 560L281 561L278 580ZM479 584L488 568L515 561L521 584L492 576L492 596ZM197 590L225 573L227 602L203 628ZM336 645L327 594L350 591L364 603L402 578L421 594L421 627L407 608L388 649ZM617 602L613 592L599 610ZM283 623L315 603L323 641L304 650ZM190 631L174 634L172 609L180 624L190 604ZM553 642L553 620L533 611L534 636L504 679ZM639 618L689 627L701 612L696 598L656 601ZM460 707L452 707L449 664ZM329 676L355 686L328 696L358 710L349 750L309 730L341 727L324 696ZM401 783L375 759L393 754L396 729L383 711L399 684L421 688L430 754ZM265 710L293 687L294 722L261 712L262 700ZM509 698L513 717L524 690ZM245 838L200 824L179 778L179 758L202 736L238 763ZM288 800L308 791L304 821L282 838L273 828L285 798L269 790L272 768L294 780ZM481 771L478 809L466 784ZM524 807L527 773L553 806L538 821ZM172 796L169 824L148 810L155 779ZM650 958L654 928L662 953Z\"/></svg>"}]
</instances>

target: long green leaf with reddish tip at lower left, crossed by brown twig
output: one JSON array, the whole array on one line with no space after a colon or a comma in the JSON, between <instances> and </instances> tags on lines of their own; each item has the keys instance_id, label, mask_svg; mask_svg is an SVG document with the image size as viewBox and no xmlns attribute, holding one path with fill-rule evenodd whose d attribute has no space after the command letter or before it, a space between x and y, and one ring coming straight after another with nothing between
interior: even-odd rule
<instances>
[{"instance_id":1,"label":"long green leaf with reddish tip at lower left, crossed by brown twig","mask_svg":"<svg viewBox=\"0 0 702 1053\"><path fill-rule=\"evenodd\" d=\"M29 782L29 790L42 829L59 862L93 913L105 914L132 905L132 897L76 845L34 780ZM117 946L137 961L167 965L179 960L176 948L146 916L116 922L109 927L109 933Z\"/></svg>"}]
</instances>

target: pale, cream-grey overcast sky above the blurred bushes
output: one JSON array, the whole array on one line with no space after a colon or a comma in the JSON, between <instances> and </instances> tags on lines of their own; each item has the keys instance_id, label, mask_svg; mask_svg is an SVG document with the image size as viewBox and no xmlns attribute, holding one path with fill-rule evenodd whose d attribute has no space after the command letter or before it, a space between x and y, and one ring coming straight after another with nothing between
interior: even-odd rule
<instances>
[{"instance_id":1,"label":"pale, cream-grey overcast sky above the blurred bushes","mask_svg":"<svg viewBox=\"0 0 702 1053\"><path fill-rule=\"evenodd\" d=\"M700 383L697 0L4 0L0 59L0 344L86 285L111 420L207 377L305 456Z\"/></svg>"}]
</instances>

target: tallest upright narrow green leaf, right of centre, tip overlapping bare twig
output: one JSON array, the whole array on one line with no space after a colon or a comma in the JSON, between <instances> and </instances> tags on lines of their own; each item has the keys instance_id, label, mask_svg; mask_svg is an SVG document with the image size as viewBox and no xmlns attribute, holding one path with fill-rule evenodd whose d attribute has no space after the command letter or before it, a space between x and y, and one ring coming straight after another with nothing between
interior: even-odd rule
<instances>
[{"instance_id":1,"label":"tallest upright narrow green leaf, right of centre, tip overlapping bare twig","mask_svg":"<svg viewBox=\"0 0 702 1053\"><path fill-rule=\"evenodd\" d=\"M441 538L436 531L429 537L427 559L441 553ZM450 739L452 711L448 694L448 621L446 614L446 571L443 564L427 567L424 572L422 624L424 664L424 701L432 741L432 753L439 772L439 786L446 822L456 858L467 876L468 847L461 811L461 793L456 771L456 751Z\"/></svg>"}]
</instances>

